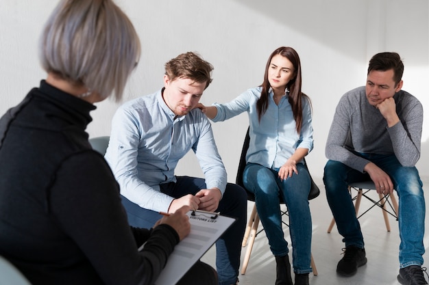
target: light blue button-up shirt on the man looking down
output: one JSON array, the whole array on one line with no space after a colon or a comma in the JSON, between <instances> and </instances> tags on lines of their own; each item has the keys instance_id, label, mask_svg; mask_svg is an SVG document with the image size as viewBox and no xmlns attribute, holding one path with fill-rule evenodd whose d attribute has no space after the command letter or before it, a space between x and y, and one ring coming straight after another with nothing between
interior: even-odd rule
<instances>
[{"instance_id":1,"label":"light blue button-up shirt on the man looking down","mask_svg":"<svg viewBox=\"0 0 429 285\"><path fill-rule=\"evenodd\" d=\"M207 188L223 194L227 176L210 122L200 109L175 118L159 90L119 107L105 158L122 195L143 208L166 212L174 198L161 193L159 185L175 182L174 169L191 149Z\"/></svg>"}]
</instances>

